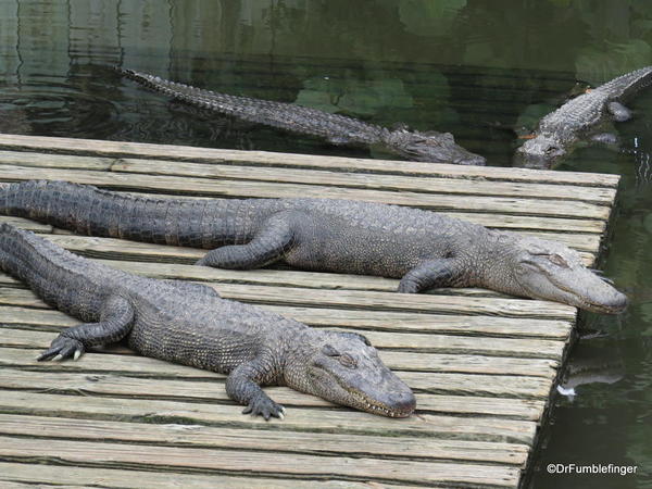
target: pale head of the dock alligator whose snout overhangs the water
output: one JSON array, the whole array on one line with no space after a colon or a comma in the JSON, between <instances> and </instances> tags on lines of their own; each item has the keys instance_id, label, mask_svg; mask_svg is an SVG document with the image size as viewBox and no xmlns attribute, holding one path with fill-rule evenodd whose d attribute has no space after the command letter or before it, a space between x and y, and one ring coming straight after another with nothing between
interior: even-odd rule
<instances>
[{"instance_id":1,"label":"pale head of the dock alligator whose snout overhangs the water","mask_svg":"<svg viewBox=\"0 0 652 489\"><path fill-rule=\"evenodd\" d=\"M627 297L610 279L587 268L575 250L560 242L511 233L501 233L498 242L502 259L494 260L484 277L498 290L599 313L625 310ZM497 250L492 255L496 258Z\"/></svg>"}]
</instances>

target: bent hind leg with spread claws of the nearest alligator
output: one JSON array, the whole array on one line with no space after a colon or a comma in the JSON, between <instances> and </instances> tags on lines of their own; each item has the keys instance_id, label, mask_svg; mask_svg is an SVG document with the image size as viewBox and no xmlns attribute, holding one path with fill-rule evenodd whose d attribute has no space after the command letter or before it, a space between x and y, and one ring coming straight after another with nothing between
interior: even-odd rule
<instances>
[{"instance_id":1,"label":"bent hind leg with spread claws of the nearest alligator","mask_svg":"<svg viewBox=\"0 0 652 489\"><path fill-rule=\"evenodd\" d=\"M65 329L50 348L38 356L41 360L77 360L90 347L114 343L131 329L134 308L124 298L113 296L104 303L98 323L85 323Z\"/></svg>"}]
</instances>

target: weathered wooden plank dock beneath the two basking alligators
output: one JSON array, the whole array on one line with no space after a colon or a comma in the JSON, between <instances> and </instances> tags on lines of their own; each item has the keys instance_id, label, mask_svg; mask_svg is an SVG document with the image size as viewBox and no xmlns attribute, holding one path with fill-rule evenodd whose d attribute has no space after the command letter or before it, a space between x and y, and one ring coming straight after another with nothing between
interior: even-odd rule
<instances>
[{"instance_id":1,"label":"weathered wooden plank dock beneath the two basking alligators","mask_svg":"<svg viewBox=\"0 0 652 489\"><path fill-rule=\"evenodd\" d=\"M618 176L0 135L0 180L65 179L161 196L327 197L431 209L563 241L592 264ZM216 286L315 327L364 331L414 389L390 419L268 388L284 421L240 414L224 376L135 356L37 363L77 324L0 273L0 486L517 487L576 309L479 289L192 266L204 251L80 237L0 217L74 252Z\"/></svg>"}]
</instances>

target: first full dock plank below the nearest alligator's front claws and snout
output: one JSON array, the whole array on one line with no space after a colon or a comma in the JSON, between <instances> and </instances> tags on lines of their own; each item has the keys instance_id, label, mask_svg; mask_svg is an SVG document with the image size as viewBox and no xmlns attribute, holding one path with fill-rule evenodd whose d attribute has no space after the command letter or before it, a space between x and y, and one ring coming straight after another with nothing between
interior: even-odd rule
<instances>
[{"instance_id":1,"label":"first full dock plank below the nearest alligator's front claws and snout","mask_svg":"<svg viewBox=\"0 0 652 489\"><path fill-rule=\"evenodd\" d=\"M0 434L183 444L201 448L246 449L302 454L351 454L365 457L456 460L494 462L523 467L527 447L466 440L437 440L422 437L380 437L340 434L313 434L280 430L250 431L193 425L152 425L45 416L0 414ZM318 438L318 441L317 439Z\"/></svg>"}]
</instances>

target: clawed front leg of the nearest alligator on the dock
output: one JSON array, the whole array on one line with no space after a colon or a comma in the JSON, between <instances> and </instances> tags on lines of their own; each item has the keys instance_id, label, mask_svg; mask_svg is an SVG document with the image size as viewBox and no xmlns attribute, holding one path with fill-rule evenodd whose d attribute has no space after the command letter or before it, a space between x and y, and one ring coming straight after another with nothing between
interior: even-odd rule
<instances>
[{"instance_id":1,"label":"clawed front leg of the nearest alligator on the dock","mask_svg":"<svg viewBox=\"0 0 652 489\"><path fill-rule=\"evenodd\" d=\"M242 414L259 414L268 421L269 417L283 419L285 408L274 402L259 385L265 375L265 362L253 360L237 366L226 379L226 393L234 401L247 405Z\"/></svg>"}]
</instances>

